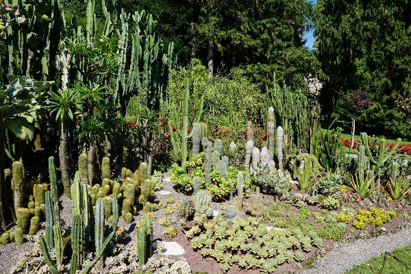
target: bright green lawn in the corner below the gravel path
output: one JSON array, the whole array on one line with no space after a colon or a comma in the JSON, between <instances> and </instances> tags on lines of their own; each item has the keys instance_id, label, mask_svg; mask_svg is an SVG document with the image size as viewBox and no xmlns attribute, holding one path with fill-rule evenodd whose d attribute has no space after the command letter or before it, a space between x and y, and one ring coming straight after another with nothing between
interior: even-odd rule
<instances>
[{"instance_id":1,"label":"bright green lawn in the corner below the gravel path","mask_svg":"<svg viewBox=\"0 0 411 274\"><path fill-rule=\"evenodd\" d=\"M384 253L347 271L346 274L411 273L411 245Z\"/></svg>"}]
</instances>

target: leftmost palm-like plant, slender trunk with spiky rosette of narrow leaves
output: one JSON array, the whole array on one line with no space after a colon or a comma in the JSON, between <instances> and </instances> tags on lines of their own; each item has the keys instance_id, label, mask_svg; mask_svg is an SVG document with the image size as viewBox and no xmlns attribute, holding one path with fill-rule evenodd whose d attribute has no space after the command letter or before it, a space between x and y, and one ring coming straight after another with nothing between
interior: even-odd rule
<instances>
[{"instance_id":1,"label":"leftmost palm-like plant, slender trunk with spiky rosette of narrow leaves","mask_svg":"<svg viewBox=\"0 0 411 274\"><path fill-rule=\"evenodd\" d=\"M64 186L64 195L71 199L70 193L70 176L69 176L69 153L67 151L69 132L67 131L67 120L73 121L74 115L80 110L81 97L75 90L58 90L58 92L49 91L47 107L51 108L51 114L55 113L55 121L60 121L60 171L62 171L62 181Z\"/></svg>"}]
</instances>

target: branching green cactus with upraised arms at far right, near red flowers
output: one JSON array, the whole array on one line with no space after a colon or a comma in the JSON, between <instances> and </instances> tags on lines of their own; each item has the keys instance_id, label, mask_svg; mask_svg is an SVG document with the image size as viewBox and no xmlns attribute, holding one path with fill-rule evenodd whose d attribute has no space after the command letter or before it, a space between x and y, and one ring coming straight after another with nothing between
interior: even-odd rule
<instances>
[{"instance_id":1,"label":"branching green cactus with upraised arms at far right, near red flowers","mask_svg":"<svg viewBox=\"0 0 411 274\"><path fill-rule=\"evenodd\" d=\"M378 153L378 159L375 160L373 158L373 155L371 154L370 147L369 147L369 141L368 141L368 136L366 135L365 132L361 133L362 137L362 142L364 144L364 148L366 150L366 153L369 155L369 159L371 163L375 166L374 171L377 173L377 186L380 185L381 182L381 175L383 172L384 164L390 159L395 153L397 153L397 147L399 146L399 143L401 142L401 138L397 138L397 141L391 147L390 151L386 153L386 140L384 138L379 139L379 153Z\"/></svg>"}]
</instances>

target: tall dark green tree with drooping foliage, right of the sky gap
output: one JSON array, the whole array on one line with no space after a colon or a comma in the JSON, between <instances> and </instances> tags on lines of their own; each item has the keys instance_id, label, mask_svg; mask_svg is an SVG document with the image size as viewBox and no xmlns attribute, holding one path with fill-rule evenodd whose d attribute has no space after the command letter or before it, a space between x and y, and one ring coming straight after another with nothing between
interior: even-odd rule
<instances>
[{"instance_id":1,"label":"tall dark green tree with drooping foliage, right of the sky gap","mask_svg":"<svg viewBox=\"0 0 411 274\"><path fill-rule=\"evenodd\" d=\"M364 124L379 134L409 136L395 100L411 93L411 2L319 0L314 17L323 102L366 90L373 105ZM332 111L332 110L330 110Z\"/></svg>"}]
</instances>

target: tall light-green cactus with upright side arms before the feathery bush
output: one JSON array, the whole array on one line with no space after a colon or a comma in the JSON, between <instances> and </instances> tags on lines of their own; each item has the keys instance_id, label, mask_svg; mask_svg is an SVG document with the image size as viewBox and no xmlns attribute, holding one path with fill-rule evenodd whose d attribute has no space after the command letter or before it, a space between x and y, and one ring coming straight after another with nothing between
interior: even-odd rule
<instances>
[{"instance_id":1,"label":"tall light-green cactus with upright side arms before the feathery bush","mask_svg":"<svg viewBox=\"0 0 411 274\"><path fill-rule=\"evenodd\" d=\"M182 117L179 116L175 106L169 119L169 132L171 138L171 144L173 145L173 154L175 158L182 161L182 167L186 170L187 160L187 143L188 138L192 136L192 132L188 134L188 99L190 99L190 90L192 89L193 77L184 79L184 99L183 99L183 113ZM203 113L203 98L199 105L197 112L197 118L195 122L200 121L201 114ZM180 127L182 121L182 127Z\"/></svg>"}]
</instances>

